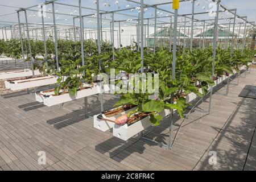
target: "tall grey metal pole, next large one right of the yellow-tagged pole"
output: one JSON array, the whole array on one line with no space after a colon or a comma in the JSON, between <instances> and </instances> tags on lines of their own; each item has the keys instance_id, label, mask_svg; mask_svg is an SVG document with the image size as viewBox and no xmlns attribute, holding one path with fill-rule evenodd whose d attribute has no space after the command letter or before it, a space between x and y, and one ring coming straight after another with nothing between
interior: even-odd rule
<instances>
[{"instance_id":1,"label":"tall grey metal pole, next large one right of the yellow-tagged pole","mask_svg":"<svg viewBox=\"0 0 256 182\"><path fill-rule=\"evenodd\" d=\"M216 11L216 17L215 17L215 26L214 26L214 40L213 40L213 63L212 63L212 79L214 78L214 69L215 69L215 59L216 59L216 46L217 46L217 31L218 31L218 14L220 10L220 1L217 1L217 11ZM210 101L209 101L209 111L211 109L212 105L212 94L213 94L213 88L210 86Z\"/></svg>"}]
</instances>

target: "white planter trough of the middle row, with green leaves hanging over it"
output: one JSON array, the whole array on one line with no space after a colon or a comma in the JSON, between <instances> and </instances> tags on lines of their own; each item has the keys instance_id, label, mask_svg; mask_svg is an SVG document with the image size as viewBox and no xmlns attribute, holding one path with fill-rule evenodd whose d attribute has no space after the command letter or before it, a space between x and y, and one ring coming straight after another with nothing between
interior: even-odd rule
<instances>
[{"instance_id":1,"label":"white planter trough of the middle row, with green leaves hanging over it","mask_svg":"<svg viewBox=\"0 0 256 182\"><path fill-rule=\"evenodd\" d=\"M84 84L84 86L91 86L88 84ZM104 85L102 89L102 93L109 91L109 85ZM53 96L54 90L52 92L45 93L46 91L40 92L36 94L36 100L44 102L44 105L50 107L58 104L63 104L65 102L77 100L79 98L84 98L88 96L92 96L94 94L100 93L100 84L96 84L93 88L80 90L77 92L76 96L70 96L69 93L60 94L59 96Z\"/></svg>"}]
</instances>

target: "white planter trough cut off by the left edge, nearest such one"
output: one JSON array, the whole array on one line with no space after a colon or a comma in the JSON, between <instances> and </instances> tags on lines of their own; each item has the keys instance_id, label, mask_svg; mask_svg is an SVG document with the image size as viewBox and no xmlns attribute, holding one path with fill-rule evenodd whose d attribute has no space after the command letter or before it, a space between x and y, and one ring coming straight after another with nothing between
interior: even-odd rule
<instances>
[{"instance_id":1,"label":"white planter trough cut off by the left edge, nearest such one","mask_svg":"<svg viewBox=\"0 0 256 182\"><path fill-rule=\"evenodd\" d=\"M39 70L34 71L35 75L42 75ZM32 76L32 71L28 69L20 70L20 71L10 71L10 72L0 72L0 80L7 80L10 78L20 78Z\"/></svg>"}]
</instances>

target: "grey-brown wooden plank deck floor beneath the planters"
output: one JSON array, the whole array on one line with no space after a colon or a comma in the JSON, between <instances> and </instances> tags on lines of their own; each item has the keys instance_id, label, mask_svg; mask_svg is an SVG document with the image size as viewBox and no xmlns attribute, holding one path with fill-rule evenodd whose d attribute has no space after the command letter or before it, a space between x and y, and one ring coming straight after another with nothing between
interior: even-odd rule
<instances>
[{"instance_id":1,"label":"grey-brown wooden plank deck floor beneath the planters","mask_svg":"<svg viewBox=\"0 0 256 182\"><path fill-rule=\"evenodd\" d=\"M85 119L84 100L61 109L46 107L27 92L0 96L0 170L255 170L256 100L238 97L246 84L256 85L256 69L238 86L230 85L228 96L213 94L210 115L190 115L172 150L139 137L123 142L94 129L92 119ZM219 92L224 90L222 85ZM88 100L90 115L100 113L99 98ZM105 95L105 109L116 100ZM208 102L199 107L207 109ZM175 119L174 134L181 123ZM149 129L147 137L167 143L169 122ZM46 152L46 165L38 164L39 151ZM216 152L215 165L208 162L210 151Z\"/></svg>"}]
</instances>

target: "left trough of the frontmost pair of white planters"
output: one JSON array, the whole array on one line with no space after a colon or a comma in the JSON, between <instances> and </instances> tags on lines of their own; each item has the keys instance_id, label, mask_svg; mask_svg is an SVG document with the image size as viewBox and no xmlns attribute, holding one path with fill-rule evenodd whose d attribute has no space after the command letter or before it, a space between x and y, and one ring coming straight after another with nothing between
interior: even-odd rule
<instances>
[{"instance_id":1,"label":"left trough of the frontmost pair of white planters","mask_svg":"<svg viewBox=\"0 0 256 182\"><path fill-rule=\"evenodd\" d=\"M123 114L128 114L130 111L133 111L133 110L135 110L136 108L137 108L137 107L134 107L133 109L127 110L127 111L122 112L122 113L119 113L119 114L114 115L113 117L110 117L110 118L105 117L104 114L102 114L102 117L107 118L107 119L110 119L110 120L112 120L112 121L115 121L115 119L117 119L117 118L120 117L121 115L123 115ZM114 110L114 109L112 109L112 110ZM98 115L100 115L100 114L98 114ZM104 120L102 120L102 119L98 119L98 118L97 118L98 115L94 115L94 116L93 116L93 126L94 126L94 128L105 132L105 131L108 131L108 130L110 130L110 129L112 129L112 128L114 127L115 123L109 122L109 121L104 121Z\"/></svg>"}]
</instances>

